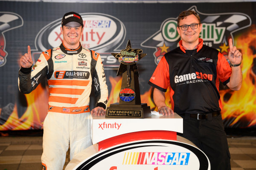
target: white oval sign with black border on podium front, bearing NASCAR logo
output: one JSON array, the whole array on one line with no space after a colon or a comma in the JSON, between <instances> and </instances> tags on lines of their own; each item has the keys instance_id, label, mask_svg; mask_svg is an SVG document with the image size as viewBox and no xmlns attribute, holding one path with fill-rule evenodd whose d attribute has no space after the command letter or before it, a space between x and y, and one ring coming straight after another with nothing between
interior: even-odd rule
<instances>
[{"instance_id":1,"label":"white oval sign with black border on podium front, bearing NASCAR logo","mask_svg":"<svg viewBox=\"0 0 256 170\"><path fill-rule=\"evenodd\" d=\"M190 144L143 140L101 150L73 170L210 170L207 156Z\"/></svg>"}]
</instances>

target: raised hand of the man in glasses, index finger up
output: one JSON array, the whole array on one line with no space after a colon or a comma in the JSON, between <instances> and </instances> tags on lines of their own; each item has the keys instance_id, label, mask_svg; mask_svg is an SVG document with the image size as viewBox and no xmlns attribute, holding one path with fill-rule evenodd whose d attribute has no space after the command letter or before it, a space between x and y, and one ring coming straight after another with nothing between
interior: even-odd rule
<instances>
[{"instance_id":1,"label":"raised hand of the man in glasses, index finger up","mask_svg":"<svg viewBox=\"0 0 256 170\"><path fill-rule=\"evenodd\" d=\"M236 46L233 46L232 38L229 40L229 47L230 51L228 53L228 59L231 62L231 64L240 64L242 61L242 53L239 52L238 49L236 49Z\"/></svg>"}]
</instances>

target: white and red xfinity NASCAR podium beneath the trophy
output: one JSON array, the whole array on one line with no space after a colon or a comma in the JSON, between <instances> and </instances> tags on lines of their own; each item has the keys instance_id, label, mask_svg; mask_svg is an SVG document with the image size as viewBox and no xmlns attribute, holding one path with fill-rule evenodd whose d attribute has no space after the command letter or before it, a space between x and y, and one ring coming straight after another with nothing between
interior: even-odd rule
<instances>
[{"instance_id":1,"label":"white and red xfinity NASCAR podium beneath the trophy","mask_svg":"<svg viewBox=\"0 0 256 170\"><path fill-rule=\"evenodd\" d=\"M210 170L209 159L183 133L183 119L92 116L93 145L76 154L65 170Z\"/></svg>"}]
</instances>

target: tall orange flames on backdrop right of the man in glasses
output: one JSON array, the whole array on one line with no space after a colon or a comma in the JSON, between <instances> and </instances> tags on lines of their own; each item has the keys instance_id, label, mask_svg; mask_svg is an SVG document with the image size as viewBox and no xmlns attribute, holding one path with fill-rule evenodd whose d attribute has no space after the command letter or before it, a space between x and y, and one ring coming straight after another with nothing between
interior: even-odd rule
<instances>
[{"instance_id":1,"label":"tall orange flames on backdrop right of the man in glasses","mask_svg":"<svg viewBox=\"0 0 256 170\"><path fill-rule=\"evenodd\" d=\"M222 118L224 124L230 127L239 125L240 128L256 125L256 69L253 72L253 63L256 58L256 28L255 25L236 40L236 47L242 52L243 82L239 91L230 89L221 90L223 103ZM256 60L255 60L256 61ZM255 62L254 61L254 62ZM227 96L231 97L227 100Z\"/></svg>"}]
</instances>

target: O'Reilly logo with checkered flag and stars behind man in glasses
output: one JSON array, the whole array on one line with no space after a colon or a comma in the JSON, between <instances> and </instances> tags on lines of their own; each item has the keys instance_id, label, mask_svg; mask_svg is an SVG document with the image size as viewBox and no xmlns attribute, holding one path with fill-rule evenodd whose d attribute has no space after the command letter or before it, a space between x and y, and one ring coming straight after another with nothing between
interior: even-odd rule
<instances>
[{"instance_id":1,"label":"O'Reilly logo with checkered flag and stars behind man in glasses","mask_svg":"<svg viewBox=\"0 0 256 170\"><path fill-rule=\"evenodd\" d=\"M201 18L200 38L204 40L204 44L218 49L224 56L228 55L229 38L232 37L234 40L233 33L251 25L251 18L243 13L205 14L198 11L196 6L192 6L188 10L197 12ZM166 52L177 48L179 45L180 35L176 28L177 16L176 18L167 18L163 21L159 31L140 44L143 47L156 49L154 52L156 64Z\"/></svg>"}]
</instances>

